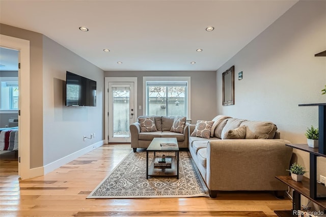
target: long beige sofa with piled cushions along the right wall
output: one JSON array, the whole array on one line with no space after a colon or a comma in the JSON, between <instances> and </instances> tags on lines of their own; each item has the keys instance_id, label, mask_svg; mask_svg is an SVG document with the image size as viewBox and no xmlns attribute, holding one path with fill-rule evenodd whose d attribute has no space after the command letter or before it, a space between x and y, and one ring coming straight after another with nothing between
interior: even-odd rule
<instances>
[{"instance_id":1,"label":"long beige sofa with piled cushions along the right wall","mask_svg":"<svg viewBox=\"0 0 326 217\"><path fill-rule=\"evenodd\" d=\"M189 151L209 188L217 191L275 191L284 194L287 186L275 176L288 175L292 148L280 139L271 122L248 121L216 116L209 138L196 137L196 125L189 126ZM226 139L226 133L244 129L243 139ZM208 127L209 128L209 127ZM231 130L231 131L230 131ZM235 133L237 134L237 133ZM223 138L223 139L221 139Z\"/></svg>"}]
</instances>

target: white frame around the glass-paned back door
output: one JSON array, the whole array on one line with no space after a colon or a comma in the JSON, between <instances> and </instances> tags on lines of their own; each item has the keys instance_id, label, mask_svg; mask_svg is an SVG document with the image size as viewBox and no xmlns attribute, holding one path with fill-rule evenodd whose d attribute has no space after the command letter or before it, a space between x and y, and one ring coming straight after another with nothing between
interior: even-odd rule
<instances>
[{"instance_id":1,"label":"white frame around the glass-paned back door","mask_svg":"<svg viewBox=\"0 0 326 217\"><path fill-rule=\"evenodd\" d=\"M133 82L134 84L134 117L137 118L137 77L104 77L104 135L105 135L105 144L108 143L108 83L109 82Z\"/></svg>"}]
</instances>

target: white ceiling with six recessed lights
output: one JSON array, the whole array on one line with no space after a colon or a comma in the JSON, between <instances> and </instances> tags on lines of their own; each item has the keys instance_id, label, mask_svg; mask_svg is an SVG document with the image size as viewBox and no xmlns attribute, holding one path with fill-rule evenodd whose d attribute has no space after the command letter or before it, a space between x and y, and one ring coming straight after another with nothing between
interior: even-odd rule
<instances>
[{"instance_id":1,"label":"white ceiling with six recessed lights","mask_svg":"<svg viewBox=\"0 0 326 217\"><path fill-rule=\"evenodd\" d=\"M217 70L296 2L0 0L0 22L41 33L104 71Z\"/></svg>"}]
</instances>

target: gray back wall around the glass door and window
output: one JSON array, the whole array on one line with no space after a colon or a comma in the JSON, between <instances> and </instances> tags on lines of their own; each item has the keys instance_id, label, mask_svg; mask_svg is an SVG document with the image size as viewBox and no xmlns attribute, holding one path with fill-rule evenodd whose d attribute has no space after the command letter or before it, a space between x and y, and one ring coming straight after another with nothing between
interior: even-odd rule
<instances>
[{"instance_id":1,"label":"gray back wall around the glass door and window","mask_svg":"<svg viewBox=\"0 0 326 217\"><path fill-rule=\"evenodd\" d=\"M144 76L190 76L191 77L191 119L211 120L216 116L216 72L215 71L105 71L105 77L137 77L137 102L143 106ZM137 106L138 108L138 106ZM138 110L138 116L144 110Z\"/></svg>"}]
</instances>

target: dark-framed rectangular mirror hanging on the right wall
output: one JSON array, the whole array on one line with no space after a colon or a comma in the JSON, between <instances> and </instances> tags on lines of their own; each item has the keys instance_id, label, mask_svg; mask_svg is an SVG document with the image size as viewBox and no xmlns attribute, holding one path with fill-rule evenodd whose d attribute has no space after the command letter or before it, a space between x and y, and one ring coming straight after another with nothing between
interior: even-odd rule
<instances>
[{"instance_id":1,"label":"dark-framed rectangular mirror hanging on the right wall","mask_svg":"<svg viewBox=\"0 0 326 217\"><path fill-rule=\"evenodd\" d=\"M234 105L234 66L223 72L223 105Z\"/></svg>"}]
</instances>

